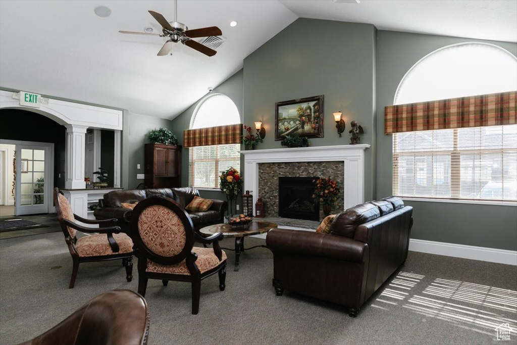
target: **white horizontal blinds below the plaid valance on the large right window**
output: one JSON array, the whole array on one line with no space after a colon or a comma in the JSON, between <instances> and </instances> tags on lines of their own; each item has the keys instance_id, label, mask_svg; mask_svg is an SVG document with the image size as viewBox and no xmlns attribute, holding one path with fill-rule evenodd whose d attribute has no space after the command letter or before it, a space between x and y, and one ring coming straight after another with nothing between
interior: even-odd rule
<instances>
[{"instance_id":1,"label":"white horizontal blinds below the plaid valance on the large right window","mask_svg":"<svg viewBox=\"0 0 517 345\"><path fill-rule=\"evenodd\" d=\"M517 201L517 125L393 134L393 193Z\"/></svg>"}]
</instances>

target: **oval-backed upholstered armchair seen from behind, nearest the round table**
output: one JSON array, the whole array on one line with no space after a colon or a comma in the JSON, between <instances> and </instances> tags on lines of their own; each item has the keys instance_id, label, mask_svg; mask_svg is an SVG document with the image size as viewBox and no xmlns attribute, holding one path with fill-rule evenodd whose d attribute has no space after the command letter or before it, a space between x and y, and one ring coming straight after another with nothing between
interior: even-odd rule
<instances>
[{"instance_id":1,"label":"oval-backed upholstered armchair seen from behind, nearest the round table","mask_svg":"<svg viewBox=\"0 0 517 345\"><path fill-rule=\"evenodd\" d=\"M133 209L130 234L138 256L138 292L145 296L148 279L192 284L192 314L199 312L201 280L218 273L219 289L224 291L226 253L219 241L223 234L201 237L192 220L176 201L161 195L140 201ZM212 248L194 247L194 242Z\"/></svg>"}]
</instances>

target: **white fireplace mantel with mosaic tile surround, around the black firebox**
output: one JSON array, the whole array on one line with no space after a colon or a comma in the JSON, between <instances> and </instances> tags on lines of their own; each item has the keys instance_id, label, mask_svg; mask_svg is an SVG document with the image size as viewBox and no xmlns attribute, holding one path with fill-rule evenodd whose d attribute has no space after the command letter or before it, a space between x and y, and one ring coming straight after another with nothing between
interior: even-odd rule
<instances>
[{"instance_id":1,"label":"white fireplace mantel with mosaic tile surround, around the black firebox","mask_svg":"<svg viewBox=\"0 0 517 345\"><path fill-rule=\"evenodd\" d=\"M342 196L332 213L364 202L364 150L368 144L241 151L244 189L265 203L266 216L278 217L278 177L330 176ZM323 211L320 210L320 219Z\"/></svg>"}]
</instances>

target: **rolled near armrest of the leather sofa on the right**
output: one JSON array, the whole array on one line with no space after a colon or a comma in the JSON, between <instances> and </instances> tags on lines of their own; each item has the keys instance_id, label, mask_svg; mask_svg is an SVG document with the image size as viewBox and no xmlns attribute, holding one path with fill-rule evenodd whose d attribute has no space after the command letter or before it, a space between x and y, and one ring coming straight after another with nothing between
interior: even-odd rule
<instances>
[{"instance_id":1,"label":"rolled near armrest of the leather sofa on the right","mask_svg":"<svg viewBox=\"0 0 517 345\"><path fill-rule=\"evenodd\" d=\"M266 245L273 253L290 252L362 263L368 254L368 244L352 238L302 230L272 229Z\"/></svg>"}]
</instances>

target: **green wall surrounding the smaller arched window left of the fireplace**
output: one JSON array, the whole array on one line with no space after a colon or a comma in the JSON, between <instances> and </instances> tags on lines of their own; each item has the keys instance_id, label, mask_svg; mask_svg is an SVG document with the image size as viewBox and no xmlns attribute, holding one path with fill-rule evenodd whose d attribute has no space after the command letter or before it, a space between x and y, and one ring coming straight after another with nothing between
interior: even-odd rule
<instances>
[{"instance_id":1,"label":"green wall surrounding the smaller arched window left of the fireplace","mask_svg":"<svg viewBox=\"0 0 517 345\"><path fill-rule=\"evenodd\" d=\"M233 74L232 77L226 79L219 86L215 87L211 94L223 94L230 97L237 110L239 111L240 118L242 119L242 69ZM204 97L203 97L204 98ZM202 98L202 99L203 99ZM202 100L201 99L201 100ZM187 110L185 110L180 115L176 116L172 120L171 130L176 137L178 137L178 142L180 145L183 145L183 130L188 129L190 126L190 119L192 118L192 114L194 113L197 104L201 101L197 101L192 106L190 106ZM241 162L242 166L242 162ZM183 148L181 152L181 186L189 185L189 149ZM208 199L221 199L225 200L225 196L219 190L201 190L200 195L203 198ZM240 204L240 201L238 201Z\"/></svg>"}]
</instances>

